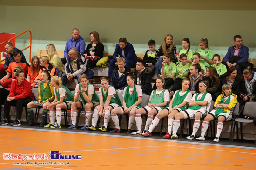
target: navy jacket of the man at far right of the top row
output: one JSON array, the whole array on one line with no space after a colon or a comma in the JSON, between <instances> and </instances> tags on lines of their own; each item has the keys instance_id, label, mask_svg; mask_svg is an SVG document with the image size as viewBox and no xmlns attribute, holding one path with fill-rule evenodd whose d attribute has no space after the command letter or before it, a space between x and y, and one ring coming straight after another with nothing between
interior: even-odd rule
<instances>
[{"instance_id":1,"label":"navy jacket of the man at far right of the top row","mask_svg":"<svg viewBox=\"0 0 256 170\"><path fill-rule=\"evenodd\" d=\"M229 47L229 50L226 56L223 58L223 61L229 62L229 58L234 56L234 53L235 53L235 45L232 47ZM236 62L237 64L248 62L248 58L249 58L248 47L241 45L238 56L242 58Z\"/></svg>"}]
</instances>

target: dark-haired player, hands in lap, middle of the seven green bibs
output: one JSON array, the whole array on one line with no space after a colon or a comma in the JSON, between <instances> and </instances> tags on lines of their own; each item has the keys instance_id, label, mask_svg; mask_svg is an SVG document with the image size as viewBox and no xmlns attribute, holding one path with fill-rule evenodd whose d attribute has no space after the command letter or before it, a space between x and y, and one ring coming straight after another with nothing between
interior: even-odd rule
<instances>
[{"instance_id":1,"label":"dark-haired player, hands in lap, middle of the seven green bibs","mask_svg":"<svg viewBox=\"0 0 256 170\"><path fill-rule=\"evenodd\" d=\"M121 133L119 119L117 115L130 114L129 126L127 134L131 134L131 128L135 120L135 113L141 107L142 89L135 84L136 76L130 74L126 77L127 87L123 91L123 105L116 107L111 111L112 120L115 124L115 129L112 133Z\"/></svg>"}]
</instances>

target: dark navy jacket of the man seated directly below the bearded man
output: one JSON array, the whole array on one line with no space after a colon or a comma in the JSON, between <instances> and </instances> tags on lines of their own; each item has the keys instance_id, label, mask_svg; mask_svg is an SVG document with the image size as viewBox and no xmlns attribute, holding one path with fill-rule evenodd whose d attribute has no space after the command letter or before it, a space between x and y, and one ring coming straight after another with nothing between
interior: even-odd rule
<instances>
[{"instance_id":1,"label":"dark navy jacket of the man seated directly below the bearded man","mask_svg":"<svg viewBox=\"0 0 256 170\"><path fill-rule=\"evenodd\" d=\"M123 90L127 86L126 77L130 74L130 70L127 67L124 67L125 70L122 76L119 78L118 76L118 67L113 70L113 74L111 76L110 85L113 86L115 89Z\"/></svg>"}]
</instances>

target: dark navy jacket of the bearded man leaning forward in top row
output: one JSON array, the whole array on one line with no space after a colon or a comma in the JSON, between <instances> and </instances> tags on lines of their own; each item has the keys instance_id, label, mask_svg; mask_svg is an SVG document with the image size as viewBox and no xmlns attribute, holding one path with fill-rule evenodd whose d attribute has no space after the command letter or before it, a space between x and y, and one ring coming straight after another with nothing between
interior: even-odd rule
<instances>
[{"instance_id":1,"label":"dark navy jacket of the bearded man leaning forward in top row","mask_svg":"<svg viewBox=\"0 0 256 170\"><path fill-rule=\"evenodd\" d=\"M113 54L113 58L114 58L115 61L116 61L116 57L118 57L118 55L123 57L123 53L122 53L122 50L121 50L119 44L116 44L115 45L115 52ZM124 49L124 55L125 55L125 57L124 57L125 60L132 60L135 63L137 62L138 57L137 57L137 55L134 51L133 45L128 43L128 42L127 42L126 47Z\"/></svg>"}]
</instances>

